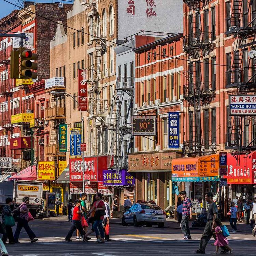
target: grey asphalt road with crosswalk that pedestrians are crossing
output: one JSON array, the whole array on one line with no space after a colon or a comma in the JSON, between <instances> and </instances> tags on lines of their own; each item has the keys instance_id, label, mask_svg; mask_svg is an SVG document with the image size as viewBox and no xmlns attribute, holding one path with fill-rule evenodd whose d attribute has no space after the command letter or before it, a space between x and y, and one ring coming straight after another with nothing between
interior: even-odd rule
<instances>
[{"instance_id":1,"label":"grey asphalt road with crosswalk that pedestrians are crossing","mask_svg":"<svg viewBox=\"0 0 256 256\"><path fill-rule=\"evenodd\" d=\"M95 236L91 236L92 239L86 243L75 241L74 237L73 242L65 242L70 225L64 220L35 220L31 222L31 228L39 241L31 244L25 230L22 230L20 244L6 245L9 255L197 255L194 251L198 248L202 233L202 230L191 230L193 240L184 241L178 227L123 227L111 224L110 242L96 244ZM256 238L247 231L231 234L229 242L234 250L233 255L256 255ZM213 243L212 239L206 248L206 255L215 251Z\"/></svg>"}]
</instances>

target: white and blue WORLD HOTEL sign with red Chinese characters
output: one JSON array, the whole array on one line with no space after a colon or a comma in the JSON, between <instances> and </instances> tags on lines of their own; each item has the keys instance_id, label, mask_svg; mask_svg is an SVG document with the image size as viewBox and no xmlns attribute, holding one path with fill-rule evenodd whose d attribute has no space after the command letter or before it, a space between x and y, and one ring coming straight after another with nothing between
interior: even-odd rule
<instances>
[{"instance_id":1,"label":"white and blue WORLD HOTEL sign with red Chinese characters","mask_svg":"<svg viewBox=\"0 0 256 256\"><path fill-rule=\"evenodd\" d=\"M256 95L229 95L231 116L256 115Z\"/></svg>"}]
</instances>

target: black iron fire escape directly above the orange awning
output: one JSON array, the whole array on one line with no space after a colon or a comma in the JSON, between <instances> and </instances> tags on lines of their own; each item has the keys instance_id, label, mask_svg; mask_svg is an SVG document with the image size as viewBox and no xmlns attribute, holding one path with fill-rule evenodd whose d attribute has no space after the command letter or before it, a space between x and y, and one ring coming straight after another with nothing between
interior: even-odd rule
<instances>
[{"instance_id":1,"label":"black iron fire escape directly above the orange awning","mask_svg":"<svg viewBox=\"0 0 256 256\"><path fill-rule=\"evenodd\" d=\"M189 8L188 34L183 37L183 51L188 57L187 83L183 87L184 99L188 104L189 140L184 141L184 154L201 156L216 151L216 138L203 138L201 129L201 109L216 97L216 81L209 81L202 74L202 58L215 48L215 38L211 31L202 31L200 9L208 6L211 0L183 0Z\"/></svg>"}]
</instances>

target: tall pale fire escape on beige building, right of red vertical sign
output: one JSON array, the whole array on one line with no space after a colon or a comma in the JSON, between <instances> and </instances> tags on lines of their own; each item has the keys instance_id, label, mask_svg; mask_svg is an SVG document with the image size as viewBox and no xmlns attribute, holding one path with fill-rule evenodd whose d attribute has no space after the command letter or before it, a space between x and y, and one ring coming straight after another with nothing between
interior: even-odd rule
<instances>
[{"instance_id":1,"label":"tall pale fire escape on beige building, right of red vertical sign","mask_svg":"<svg viewBox=\"0 0 256 256\"><path fill-rule=\"evenodd\" d=\"M89 155L101 155L101 141L103 129L106 129L106 109L102 100L99 80L101 79L101 58L106 53L106 40L103 35L98 0L84 2L89 29L89 41L94 47L93 61L87 68L88 96L89 96Z\"/></svg>"}]
</instances>

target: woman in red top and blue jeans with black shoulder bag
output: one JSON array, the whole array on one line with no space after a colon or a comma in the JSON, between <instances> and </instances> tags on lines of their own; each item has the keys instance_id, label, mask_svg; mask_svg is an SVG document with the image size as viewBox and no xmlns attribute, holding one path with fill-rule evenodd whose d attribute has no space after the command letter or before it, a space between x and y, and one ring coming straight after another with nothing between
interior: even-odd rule
<instances>
[{"instance_id":1,"label":"woman in red top and blue jeans with black shoulder bag","mask_svg":"<svg viewBox=\"0 0 256 256\"><path fill-rule=\"evenodd\" d=\"M91 230L89 230L85 237L87 237L89 234L93 233L95 231L96 236L97 236L97 243L104 243L104 231L103 231L103 227L102 227L102 222L103 222L103 218L106 210L105 204L102 201L102 195L101 193L96 193L95 195L95 199L96 201L93 204L93 207L91 208L91 210L89 211L89 214L93 213L94 215L94 224L93 224L93 228ZM103 214L104 213L104 214Z\"/></svg>"}]
</instances>

